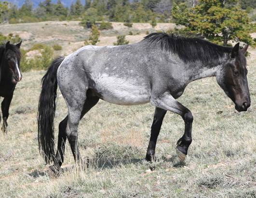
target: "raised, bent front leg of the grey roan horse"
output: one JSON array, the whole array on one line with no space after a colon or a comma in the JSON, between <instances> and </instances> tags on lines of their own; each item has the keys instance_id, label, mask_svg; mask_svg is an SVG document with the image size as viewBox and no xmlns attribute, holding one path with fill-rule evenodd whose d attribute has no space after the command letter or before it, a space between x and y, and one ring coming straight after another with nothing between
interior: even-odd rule
<instances>
[{"instance_id":1,"label":"raised, bent front leg of the grey roan horse","mask_svg":"<svg viewBox=\"0 0 256 198\"><path fill-rule=\"evenodd\" d=\"M185 132L177 142L176 151L178 158L181 161L184 161L186 155L188 154L189 145L192 142L192 113L188 108L176 101L169 92L164 92L162 94L152 96L151 103L159 108L174 112L183 118L185 122Z\"/></svg>"}]
</instances>

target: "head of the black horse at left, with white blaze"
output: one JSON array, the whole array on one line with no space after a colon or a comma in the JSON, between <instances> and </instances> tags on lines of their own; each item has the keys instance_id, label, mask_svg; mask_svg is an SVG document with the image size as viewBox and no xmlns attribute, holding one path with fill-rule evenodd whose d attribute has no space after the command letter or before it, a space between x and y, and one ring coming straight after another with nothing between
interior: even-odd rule
<instances>
[{"instance_id":1,"label":"head of the black horse at left, with white blaze","mask_svg":"<svg viewBox=\"0 0 256 198\"><path fill-rule=\"evenodd\" d=\"M10 73L12 74L13 84L16 84L18 81L22 79L22 75L20 72L21 57L20 57L20 51L19 51L21 42L16 45L12 45L8 41L5 46L6 48L6 51L4 54L5 63L6 63L5 65L8 67Z\"/></svg>"}]
</instances>

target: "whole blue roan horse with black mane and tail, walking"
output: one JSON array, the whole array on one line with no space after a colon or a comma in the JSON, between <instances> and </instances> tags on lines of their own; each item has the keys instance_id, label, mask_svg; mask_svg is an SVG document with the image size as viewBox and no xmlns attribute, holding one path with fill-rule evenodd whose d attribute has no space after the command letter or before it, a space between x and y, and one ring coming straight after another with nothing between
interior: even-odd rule
<instances>
[{"instance_id":1,"label":"whole blue roan horse with black mane and tail, walking","mask_svg":"<svg viewBox=\"0 0 256 198\"><path fill-rule=\"evenodd\" d=\"M222 47L206 40L153 33L129 45L85 46L65 58L57 58L42 78L38 111L38 141L45 161L59 170L68 139L75 160L79 159L77 129L80 119L99 99L118 105L150 102L155 106L147 160L153 160L157 137L166 111L180 115L184 135L177 142L177 155L185 160L192 142L193 116L176 99L197 79L216 76L220 87L238 111L250 106L247 69L239 43ZM57 85L66 101L67 117L59 124L54 155L54 111Z\"/></svg>"}]
</instances>

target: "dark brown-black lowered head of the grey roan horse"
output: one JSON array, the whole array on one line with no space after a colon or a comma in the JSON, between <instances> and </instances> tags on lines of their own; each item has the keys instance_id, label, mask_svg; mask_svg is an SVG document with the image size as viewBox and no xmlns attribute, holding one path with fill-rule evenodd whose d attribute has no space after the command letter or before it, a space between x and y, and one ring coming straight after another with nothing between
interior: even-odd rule
<instances>
[{"instance_id":1,"label":"dark brown-black lowered head of the grey roan horse","mask_svg":"<svg viewBox=\"0 0 256 198\"><path fill-rule=\"evenodd\" d=\"M235 103L237 111L247 111L251 105L247 83L246 59L244 54L248 45L239 50L239 43L231 52L231 59L223 67L217 77L217 82L229 98Z\"/></svg>"}]
</instances>

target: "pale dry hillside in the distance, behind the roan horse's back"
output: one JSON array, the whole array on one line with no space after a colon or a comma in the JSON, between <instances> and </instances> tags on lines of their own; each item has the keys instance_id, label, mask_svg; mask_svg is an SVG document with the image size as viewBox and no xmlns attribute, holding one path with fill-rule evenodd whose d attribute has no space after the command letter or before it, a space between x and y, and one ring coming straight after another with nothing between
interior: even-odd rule
<instances>
[{"instance_id":1,"label":"pale dry hillside in the distance, behind the roan horse's back","mask_svg":"<svg viewBox=\"0 0 256 198\"><path fill-rule=\"evenodd\" d=\"M0 32L4 35L18 34L24 41L22 47L30 48L33 44L44 43L53 46L59 44L62 51L55 55L67 55L84 45L84 40L89 38L89 29L79 25L79 21L46 21L26 24L7 24L0 26ZM113 45L117 41L117 35L127 35L130 43L138 42L146 36L146 32L156 30L169 30L176 27L175 24L158 23L153 29L147 23L133 23L133 27L124 26L123 23L111 22L113 29L100 31L99 46ZM133 35L128 35L132 32Z\"/></svg>"}]
</instances>

